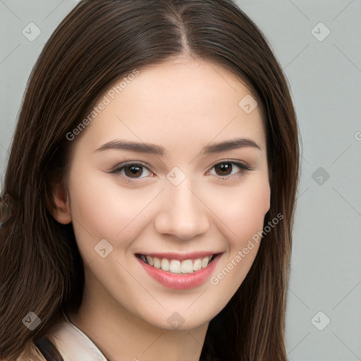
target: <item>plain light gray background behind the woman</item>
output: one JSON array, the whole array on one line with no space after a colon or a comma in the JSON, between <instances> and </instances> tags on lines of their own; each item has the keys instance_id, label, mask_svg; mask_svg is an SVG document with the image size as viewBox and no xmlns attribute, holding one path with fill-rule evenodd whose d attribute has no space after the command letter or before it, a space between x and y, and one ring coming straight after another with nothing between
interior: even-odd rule
<instances>
[{"instance_id":1,"label":"plain light gray background behind the woman","mask_svg":"<svg viewBox=\"0 0 361 361\"><path fill-rule=\"evenodd\" d=\"M1 178L32 66L76 3L0 0ZM238 4L264 32L286 73L302 137L288 358L361 360L361 1ZM33 41L22 33L30 33L31 22L41 31ZM32 27L27 36L34 35Z\"/></svg>"}]
</instances>

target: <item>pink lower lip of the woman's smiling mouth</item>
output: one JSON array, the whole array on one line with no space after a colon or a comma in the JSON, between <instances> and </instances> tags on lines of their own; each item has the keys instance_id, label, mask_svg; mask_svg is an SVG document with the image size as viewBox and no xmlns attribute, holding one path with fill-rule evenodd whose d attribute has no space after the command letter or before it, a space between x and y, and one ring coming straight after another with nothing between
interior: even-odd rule
<instances>
[{"instance_id":1,"label":"pink lower lip of the woman's smiling mouth","mask_svg":"<svg viewBox=\"0 0 361 361\"><path fill-rule=\"evenodd\" d=\"M221 255L217 255L207 267L194 271L192 274L172 274L163 269L150 266L149 264L137 258L142 267L147 271L149 276L161 283L162 285L173 288L175 290L188 290L190 288L196 288L204 283L212 274L216 263Z\"/></svg>"}]
</instances>

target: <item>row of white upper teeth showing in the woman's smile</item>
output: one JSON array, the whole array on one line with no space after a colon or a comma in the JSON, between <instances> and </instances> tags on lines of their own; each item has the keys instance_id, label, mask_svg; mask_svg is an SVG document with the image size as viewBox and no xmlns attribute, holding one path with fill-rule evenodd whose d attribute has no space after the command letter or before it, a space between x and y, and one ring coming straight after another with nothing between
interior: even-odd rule
<instances>
[{"instance_id":1,"label":"row of white upper teeth showing in the woman's smile","mask_svg":"<svg viewBox=\"0 0 361 361\"><path fill-rule=\"evenodd\" d=\"M192 274L193 272L206 268L211 262L213 262L217 255L219 254L183 260L158 258L141 254L137 254L135 256L142 259L142 261L149 264L149 266L161 269L162 271L168 271L172 274Z\"/></svg>"}]
</instances>

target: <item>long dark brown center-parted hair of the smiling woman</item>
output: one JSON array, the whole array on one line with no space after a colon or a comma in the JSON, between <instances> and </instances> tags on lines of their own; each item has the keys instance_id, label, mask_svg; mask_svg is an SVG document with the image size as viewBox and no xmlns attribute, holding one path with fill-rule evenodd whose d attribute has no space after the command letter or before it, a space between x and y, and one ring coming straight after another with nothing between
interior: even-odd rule
<instances>
[{"instance_id":1,"label":"long dark brown center-parted hair of the smiling woman","mask_svg":"<svg viewBox=\"0 0 361 361\"><path fill-rule=\"evenodd\" d=\"M11 204L0 229L6 360L34 348L63 310L76 312L82 302L84 270L73 227L51 215L52 190L66 176L81 136L70 142L66 135L115 80L183 54L233 72L255 94L264 109L271 186L264 225L283 215L262 237L240 288L210 322L201 360L286 360L298 125L267 39L231 0L83 0L51 35L27 83L4 178ZM22 322L28 312L41 320L33 330Z\"/></svg>"}]
</instances>

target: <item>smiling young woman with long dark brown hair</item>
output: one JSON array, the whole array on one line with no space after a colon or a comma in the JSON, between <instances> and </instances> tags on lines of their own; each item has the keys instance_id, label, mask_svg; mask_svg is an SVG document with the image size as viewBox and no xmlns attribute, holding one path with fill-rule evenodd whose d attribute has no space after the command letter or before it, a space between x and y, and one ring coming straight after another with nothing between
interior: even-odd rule
<instances>
[{"instance_id":1,"label":"smiling young woman with long dark brown hair","mask_svg":"<svg viewBox=\"0 0 361 361\"><path fill-rule=\"evenodd\" d=\"M298 167L286 78L232 1L80 1L11 145L2 360L286 360Z\"/></svg>"}]
</instances>

